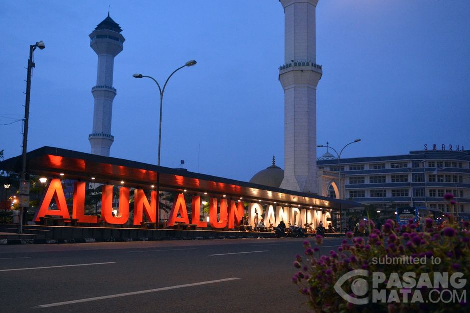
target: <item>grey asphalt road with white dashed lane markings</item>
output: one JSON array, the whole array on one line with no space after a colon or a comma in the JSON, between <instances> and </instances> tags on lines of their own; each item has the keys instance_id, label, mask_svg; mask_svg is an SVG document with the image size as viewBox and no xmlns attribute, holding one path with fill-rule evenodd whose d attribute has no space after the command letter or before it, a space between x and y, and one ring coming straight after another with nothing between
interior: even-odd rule
<instances>
[{"instance_id":1,"label":"grey asphalt road with white dashed lane markings","mask_svg":"<svg viewBox=\"0 0 470 313\"><path fill-rule=\"evenodd\" d=\"M304 240L0 246L0 312L308 312L291 283Z\"/></svg>"}]
</instances>

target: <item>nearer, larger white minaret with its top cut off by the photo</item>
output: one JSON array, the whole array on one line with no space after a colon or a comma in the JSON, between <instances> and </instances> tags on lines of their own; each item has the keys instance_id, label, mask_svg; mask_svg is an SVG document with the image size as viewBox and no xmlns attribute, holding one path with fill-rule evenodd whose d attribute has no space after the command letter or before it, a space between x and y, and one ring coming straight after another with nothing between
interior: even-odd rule
<instances>
[{"instance_id":1,"label":"nearer, larger white minaret with its top cut off by the photo","mask_svg":"<svg viewBox=\"0 0 470 313\"><path fill-rule=\"evenodd\" d=\"M315 57L318 0L279 0L285 15L284 180L281 188L318 193L316 165L316 90L321 65Z\"/></svg>"}]
</instances>

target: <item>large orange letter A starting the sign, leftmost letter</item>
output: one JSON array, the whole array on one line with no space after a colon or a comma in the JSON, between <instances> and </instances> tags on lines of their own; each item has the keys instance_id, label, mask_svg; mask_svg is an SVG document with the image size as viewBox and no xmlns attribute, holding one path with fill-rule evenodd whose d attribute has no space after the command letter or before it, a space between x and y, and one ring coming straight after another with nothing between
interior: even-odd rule
<instances>
[{"instance_id":1,"label":"large orange letter A starting the sign, leftmost letter","mask_svg":"<svg viewBox=\"0 0 470 313\"><path fill-rule=\"evenodd\" d=\"M57 204L57 210L49 209L52 197L55 199L55 203ZM39 222L39 218L44 217L46 215L55 215L60 216L62 218L70 218L70 214L68 213L67 202L65 202L64 190L62 188L62 183L60 182L60 179L54 178L50 181L49 187L47 188L47 192L44 195L44 198L42 199L41 207L39 208L39 211L34 217L34 221Z\"/></svg>"}]
</instances>

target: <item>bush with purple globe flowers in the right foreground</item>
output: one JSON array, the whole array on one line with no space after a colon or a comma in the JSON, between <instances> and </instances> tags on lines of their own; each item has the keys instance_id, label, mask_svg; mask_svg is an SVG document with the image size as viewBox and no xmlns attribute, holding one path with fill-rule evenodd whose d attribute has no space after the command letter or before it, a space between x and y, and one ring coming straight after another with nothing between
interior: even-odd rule
<instances>
[{"instance_id":1,"label":"bush with purple globe flowers in the right foreground","mask_svg":"<svg viewBox=\"0 0 470 313\"><path fill-rule=\"evenodd\" d=\"M446 218L448 223L442 230L433 227L432 219L426 219L421 232L416 230L413 219L401 227L389 219L381 230L369 223L367 237L353 237L348 232L348 239L344 239L336 251L331 250L326 255L320 255L319 251L323 238L315 238L317 246L313 248L309 241L304 241L305 257L296 256L293 265L298 272L292 277L292 282L307 297L307 303L315 312L470 312L467 299L470 297L470 224L464 222L460 226L454 222L452 215ZM397 262L387 264L387 260ZM346 301L334 288L344 274L353 270L368 271L369 275L365 278L367 291L358 292L357 277L346 280L341 289L354 298L367 297L367 304ZM386 277L378 286L373 285L371 274L374 272L382 272ZM407 281L403 276L406 272L415 273L415 286L406 288ZM462 273L460 282L464 282L464 279L468 282L461 288L451 286L451 280L447 280L449 286L434 285L435 277L439 280L439 274L446 272L448 277ZM426 278L426 274L422 273L429 275L432 287L421 281L423 275ZM398 281L393 279L396 277ZM385 290L386 301L372 300L374 288L376 292ZM449 291L442 292L444 289ZM416 291L423 300L415 298ZM441 292L443 300L439 298ZM452 297L449 293L454 292L458 297L448 301ZM465 293L465 297L462 297L462 293ZM357 296L359 294L361 297ZM436 298L438 301L434 303L429 301Z\"/></svg>"}]
</instances>

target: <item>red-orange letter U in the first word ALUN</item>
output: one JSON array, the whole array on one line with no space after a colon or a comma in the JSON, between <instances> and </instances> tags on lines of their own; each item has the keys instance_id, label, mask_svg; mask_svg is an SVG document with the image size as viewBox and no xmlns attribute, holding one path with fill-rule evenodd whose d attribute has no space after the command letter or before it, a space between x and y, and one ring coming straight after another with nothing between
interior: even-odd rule
<instances>
[{"instance_id":1,"label":"red-orange letter U in the first word ALUN","mask_svg":"<svg viewBox=\"0 0 470 313\"><path fill-rule=\"evenodd\" d=\"M129 219L129 188L119 189L119 213L113 216L113 186L104 185L101 195L101 217L109 224L125 224Z\"/></svg>"}]
</instances>

